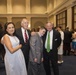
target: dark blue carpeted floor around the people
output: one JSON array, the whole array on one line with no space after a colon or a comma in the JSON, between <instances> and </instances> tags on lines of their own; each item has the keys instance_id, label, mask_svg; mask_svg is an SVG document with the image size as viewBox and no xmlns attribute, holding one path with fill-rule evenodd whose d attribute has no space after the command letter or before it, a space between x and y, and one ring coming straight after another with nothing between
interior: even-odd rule
<instances>
[{"instance_id":1,"label":"dark blue carpeted floor around the people","mask_svg":"<svg viewBox=\"0 0 76 75\"><path fill-rule=\"evenodd\" d=\"M76 56L64 56L64 63L59 65L60 75L76 75ZM0 59L0 75L6 75L4 62ZM53 75L53 73L52 73Z\"/></svg>"}]
</instances>

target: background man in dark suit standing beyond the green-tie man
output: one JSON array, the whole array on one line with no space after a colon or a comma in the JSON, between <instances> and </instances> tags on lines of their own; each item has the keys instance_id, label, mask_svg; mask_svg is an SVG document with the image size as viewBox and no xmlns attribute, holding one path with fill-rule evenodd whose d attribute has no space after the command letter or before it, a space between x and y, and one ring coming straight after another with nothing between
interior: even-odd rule
<instances>
[{"instance_id":1,"label":"background man in dark suit standing beyond the green-tie man","mask_svg":"<svg viewBox=\"0 0 76 75\"><path fill-rule=\"evenodd\" d=\"M70 55L70 51L71 51L71 42L72 42L72 33L69 31L69 27L66 27L65 31L64 31L64 46L63 46L63 50L64 50L64 55Z\"/></svg>"}]
</instances>

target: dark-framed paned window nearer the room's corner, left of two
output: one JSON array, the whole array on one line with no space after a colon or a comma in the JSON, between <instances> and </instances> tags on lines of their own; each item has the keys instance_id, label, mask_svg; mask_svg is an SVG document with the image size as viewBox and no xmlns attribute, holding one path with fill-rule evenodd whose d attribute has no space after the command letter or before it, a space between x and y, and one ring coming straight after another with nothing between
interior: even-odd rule
<instances>
[{"instance_id":1,"label":"dark-framed paned window nearer the room's corner, left of two","mask_svg":"<svg viewBox=\"0 0 76 75\"><path fill-rule=\"evenodd\" d=\"M63 11L56 15L56 26L61 26L64 30L67 26L67 11Z\"/></svg>"}]
</instances>

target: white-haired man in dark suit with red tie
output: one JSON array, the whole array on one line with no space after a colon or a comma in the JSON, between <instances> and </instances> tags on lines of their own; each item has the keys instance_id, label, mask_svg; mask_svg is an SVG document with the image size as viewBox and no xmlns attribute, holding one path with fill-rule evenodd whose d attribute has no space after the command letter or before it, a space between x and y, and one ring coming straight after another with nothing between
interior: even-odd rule
<instances>
[{"instance_id":1,"label":"white-haired man in dark suit with red tie","mask_svg":"<svg viewBox=\"0 0 76 75\"><path fill-rule=\"evenodd\" d=\"M28 20L27 18L23 18L21 21L21 28L16 30L16 35L22 44L22 52L25 57L26 68L28 68L28 61L29 61L29 39L30 39L30 31L28 30Z\"/></svg>"}]
</instances>

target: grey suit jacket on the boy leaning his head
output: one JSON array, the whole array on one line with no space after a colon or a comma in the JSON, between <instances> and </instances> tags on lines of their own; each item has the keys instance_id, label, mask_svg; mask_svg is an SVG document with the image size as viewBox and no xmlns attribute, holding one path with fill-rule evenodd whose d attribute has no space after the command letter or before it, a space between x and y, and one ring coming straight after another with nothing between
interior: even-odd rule
<instances>
[{"instance_id":1,"label":"grey suit jacket on the boy leaning his head","mask_svg":"<svg viewBox=\"0 0 76 75\"><path fill-rule=\"evenodd\" d=\"M37 58L37 63L41 62L41 58L43 58L43 41L38 33L36 35L31 36L30 38L30 58L31 62L34 62L34 59Z\"/></svg>"}]
</instances>

